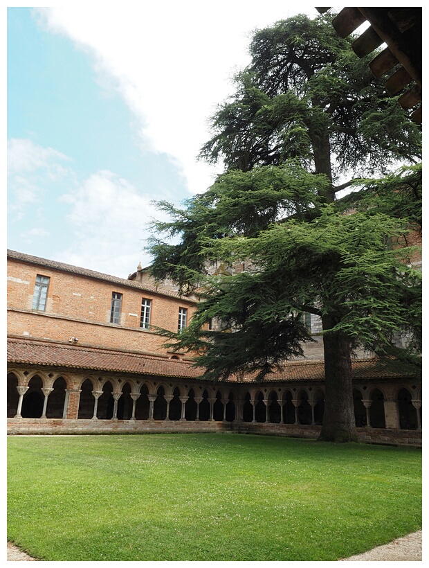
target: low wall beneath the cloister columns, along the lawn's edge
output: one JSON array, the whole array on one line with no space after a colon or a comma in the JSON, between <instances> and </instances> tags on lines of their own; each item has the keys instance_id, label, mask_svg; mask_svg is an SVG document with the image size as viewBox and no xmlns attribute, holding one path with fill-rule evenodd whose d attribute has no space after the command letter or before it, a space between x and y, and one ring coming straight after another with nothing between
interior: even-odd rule
<instances>
[{"instance_id":1,"label":"low wall beneath the cloister columns, along the lawn's edge","mask_svg":"<svg viewBox=\"0 0 429 568\"><path fill-rule=\"evenodd\" d=\"M251 422L187 420L61 420L60 418L8 418L8 435L28 434L151 434L174 432L239 432L266 436L316 439L320 426ZM358 428L361 442L421 447L421 432Z\"/></svg>"}]
</instances>

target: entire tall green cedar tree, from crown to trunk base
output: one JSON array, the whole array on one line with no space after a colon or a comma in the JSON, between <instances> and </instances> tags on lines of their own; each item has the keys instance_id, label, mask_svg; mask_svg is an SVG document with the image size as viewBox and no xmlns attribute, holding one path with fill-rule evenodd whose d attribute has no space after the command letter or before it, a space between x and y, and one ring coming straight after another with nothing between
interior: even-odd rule
<instances>
[{"instance_id":1,"label":"entire tall green cedar tree, from crown to trunk base","mask_svg":"<svg viewBox=\"0 0 429 568\"><path fill-rule=\"evenodd\" d=\"M201 294L188 328L162 333L195 354L206 378L262 380L302 355L311 341L302 314L316 314L325 351L320 438L356 440L353 350L396 355L399 337L418 350L421 326L420 274L408 265L412 250L399 246L419 222L421 170L361 177L418 161L419 129L327 17L260 30L250 54L201 150L225 172L184 208L159 204L172 220L154 224L152 274ZM356 177L353 197L336 200ZM219 264L230 276L213 274Z\"/></svg>"}]
</instances>

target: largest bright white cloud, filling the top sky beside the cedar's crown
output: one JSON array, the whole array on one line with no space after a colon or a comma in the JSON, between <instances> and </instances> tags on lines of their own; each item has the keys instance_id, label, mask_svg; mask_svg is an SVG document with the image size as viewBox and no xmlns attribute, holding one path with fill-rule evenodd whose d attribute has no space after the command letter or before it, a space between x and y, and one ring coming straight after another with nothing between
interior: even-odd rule
<instances>
[{"instance_id":1,"label":"largest bright white cloud, filling the top sky beside the cedar's crown","mask_svg":"<svg viewBox=\"0 0 429 568\"><path fill-rule=\"evenodd\" d=\"M300 4L316 15L316 8ZM116 88L140 123L143 148L170 154L192 193L205 190L215 168L197 163L210 134L208 118L248 62L250 33L295 14L270 3L196 0L39 8L44 25L65 34L95 60L104 89Z\"/></svg>"}]
</instances>

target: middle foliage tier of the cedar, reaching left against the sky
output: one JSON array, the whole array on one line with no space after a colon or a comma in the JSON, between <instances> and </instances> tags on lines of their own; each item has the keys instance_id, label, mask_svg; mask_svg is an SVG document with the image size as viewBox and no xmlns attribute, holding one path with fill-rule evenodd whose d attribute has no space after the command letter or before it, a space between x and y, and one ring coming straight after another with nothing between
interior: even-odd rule
<instances>
[{"instance_id":1,"label":"middle foliage tier of the cedar, reaching left against the sky","mask_svg":"<svg viewBox=\"0 0 429 568\"><path fill-rule=\"evenodd\" d=\"M312 218L320 207L318 193L326 186L326 177L288 161L281 167L226 172L206 193L185 202L184 209L158 203L172 220L153 224L157 236L148 246L155 259L152 275L160 281L173 278L181 290L189 291L206 274L207 261L217 259L213 241L255 236L283 218ZM160 234L167 239L179 237L179 243L162 240Z\"/></svg>"}]
</instances>

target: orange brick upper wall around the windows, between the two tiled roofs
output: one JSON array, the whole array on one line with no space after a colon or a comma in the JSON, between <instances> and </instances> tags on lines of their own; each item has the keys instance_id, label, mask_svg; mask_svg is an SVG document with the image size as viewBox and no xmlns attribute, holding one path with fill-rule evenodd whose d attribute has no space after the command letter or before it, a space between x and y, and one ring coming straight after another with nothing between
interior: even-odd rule
<instances>
[{"instance_id":1,"label":"orange brick upper wall around the windows, between the two tiled roofs","mask_svg":"<svg viewBox=\"0 0 429 568\"><path fill-rule=\"evenodd\" d=\"M37 274L50 278L46 310L32 310ZM120 324L110 323L112 292L122 294ZM79 344L165 352L164 339L140 328L142 299L149 299L152 326L176 331L179 307L194 311L194 303L132 285L64 272L44 265L8 259L8 334Z\"/></svg>"}]
</instances>

